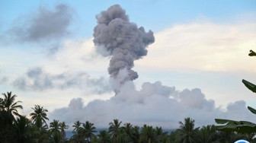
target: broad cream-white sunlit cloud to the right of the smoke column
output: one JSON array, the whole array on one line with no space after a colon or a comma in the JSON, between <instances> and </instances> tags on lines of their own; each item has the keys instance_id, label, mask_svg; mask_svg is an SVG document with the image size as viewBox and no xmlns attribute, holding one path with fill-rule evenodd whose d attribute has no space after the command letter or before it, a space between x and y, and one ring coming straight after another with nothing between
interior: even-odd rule
<instances>
[{"instance_id":1,"label":"broad cream-white sunlit cloud to the right of the smoke column","mask_svg":"<svg viewBox=\"0 0 256 143\"><path fill-rule=\"evenodd\" d=\"M256 21L176 24L155 34L149 54L136 65L176 71L255 71Z\"/></svg>"}]
</instances>

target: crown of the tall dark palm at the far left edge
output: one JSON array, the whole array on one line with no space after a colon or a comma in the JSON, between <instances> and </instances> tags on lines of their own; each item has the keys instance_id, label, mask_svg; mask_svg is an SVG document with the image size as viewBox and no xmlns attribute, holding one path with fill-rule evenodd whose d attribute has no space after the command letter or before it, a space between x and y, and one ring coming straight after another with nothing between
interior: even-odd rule
<instances>
[{"instance_id":1,"label":"crown of the tall dark palm at the far left edge","mask_svg":"<svg viewBox=\"0 0 256 143\"><path fill-rule=\"evenodd\" d=\"M2 95L4 98L1 100L0 109L7 113L11 113L13 116L20 116L18 109L23 109L23 106L18 104L22 103L21 101L15 102L17 95L11 95L11 92L7 92L7 94Z\"/></svg>"}]
</instances>

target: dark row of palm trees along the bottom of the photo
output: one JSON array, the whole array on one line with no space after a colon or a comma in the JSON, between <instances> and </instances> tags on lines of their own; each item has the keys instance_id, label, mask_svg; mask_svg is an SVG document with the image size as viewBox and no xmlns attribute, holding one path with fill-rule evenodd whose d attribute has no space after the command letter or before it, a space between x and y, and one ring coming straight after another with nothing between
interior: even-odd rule
<instances>
[{"instance_id":1,"label":"dark row of palm trees along the bottom of the photo","mask_svg":"<svg viewBox=\"0 0 256 143\"><path fill-rule=\"evenodd\" d=\"M43 106L35 105L30 119L21 116L21 101L15 102L16 95L11 92L0 98L0 143L233 143L238 139L256 142L255 133L238 134L236 132L217 131L214 125L195 127L195 120L187 117L178 122L174 132L165 132L162 127L144 125L133 126L114 119L109 128L97 132L92 122L75 121L73 135L66 138L66 122L53 119L47 125Z\"/></svg>"}]
</instances>

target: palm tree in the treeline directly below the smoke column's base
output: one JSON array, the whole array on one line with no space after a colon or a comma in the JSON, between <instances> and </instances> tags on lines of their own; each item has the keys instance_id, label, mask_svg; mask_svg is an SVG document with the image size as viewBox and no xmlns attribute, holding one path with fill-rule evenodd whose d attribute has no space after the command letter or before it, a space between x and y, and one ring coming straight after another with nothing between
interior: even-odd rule
<instances>
[{"instance_id":1,"label":"palm tree in the treeline directly below the smoke column's base","mask_svg":"<svg viewBox=\"0 0 256 143\"><path fill-rule=\"evenodd\" d=\"M108 128L108 132L110 132L111 134L112 142L117 142L116 139L117 139L118 132L120 130L121 123L122 122L119 122L118 119L114 119L114 122L109 123L110 127Z\"/></svg>"}]
</instances>

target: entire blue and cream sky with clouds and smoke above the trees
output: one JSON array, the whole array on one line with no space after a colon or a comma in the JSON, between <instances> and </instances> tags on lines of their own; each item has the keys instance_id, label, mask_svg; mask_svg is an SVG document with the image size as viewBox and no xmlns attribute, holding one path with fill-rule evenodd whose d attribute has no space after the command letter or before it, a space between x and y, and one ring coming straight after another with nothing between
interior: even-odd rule
<instances>
[{"instance_id":1,"label":"entire blue and cream sky with clouds and smoke above the trees","mask_svg":"<svg viewBox=\"0 0 256 143\"><path fill-rule=\"evenodd\" d=\"M253 121L255 47L252 0L0 0L0 91L69 126Z\"/></svg>"}]
</instances>

